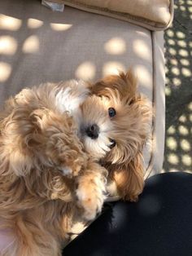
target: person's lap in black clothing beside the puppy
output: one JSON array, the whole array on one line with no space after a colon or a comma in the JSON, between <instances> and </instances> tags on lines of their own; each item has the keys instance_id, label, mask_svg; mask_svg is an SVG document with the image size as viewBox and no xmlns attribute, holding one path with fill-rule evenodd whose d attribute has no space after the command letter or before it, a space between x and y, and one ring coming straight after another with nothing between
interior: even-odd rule
<instances>
[{"instance_id":1,"label":"person's lap in black clothing beside the puppy","mask_svg":"<svg viewBox=\"0 0 192 256\"><path fill-rule=\"evenodd\" d=\"M158 174L137 203L107 203L63 256L190 256L191 230L192 174Z\"/></svg>"}]
</instances>

